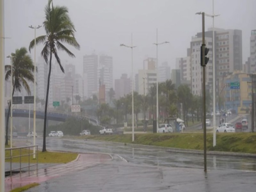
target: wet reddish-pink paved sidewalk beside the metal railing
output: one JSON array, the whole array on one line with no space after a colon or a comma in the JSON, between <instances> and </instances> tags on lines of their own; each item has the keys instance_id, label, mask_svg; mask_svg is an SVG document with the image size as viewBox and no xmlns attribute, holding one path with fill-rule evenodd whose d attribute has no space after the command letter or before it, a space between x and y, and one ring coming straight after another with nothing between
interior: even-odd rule
<instances>
[{"instance_id":1,"label":"wet reddish-pink paved sidewalk beside the metal railing","mask_svg":"<svg viewBox=\"0 0 256 192\"><path fill-rule=\"evenodd\" d=\"M5 191L22 187L31 183L41 183L69 173L75 173L89 167L112 160L107 154L79 154L76 160L67 164L38 169L38 171L24 172L5 178Z\"/></svg>"}]
</instances>

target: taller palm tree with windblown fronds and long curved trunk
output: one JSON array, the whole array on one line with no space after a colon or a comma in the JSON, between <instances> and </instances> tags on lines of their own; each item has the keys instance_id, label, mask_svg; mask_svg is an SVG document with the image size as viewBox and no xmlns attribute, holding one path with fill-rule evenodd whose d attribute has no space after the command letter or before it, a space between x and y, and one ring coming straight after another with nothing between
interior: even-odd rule
<instances>
[{"instance_id":1,"label":"taller palm tree with windblown fronds and long curved trunk","mask_svg":"<svg viewBox=\"0 0 256 192\"><path fill-rule=\"evenodd\" d=\"M45 62L49 63L49 73L47 81L46 99L45 99L45 110L44 110L44 137L43 137L43 149L42 152L46 151L45 136L46 136L46 114L48 105L48 93L50 76L52 70L52 54L56 58L61 71L64 73L64 69L61 65L60 58L57 50L66 52L69 56L75 57L75 55L68 50L63 43L74 46L76 49L80 48L74 36L75 27L68 16L68 8L65 6L53 6L52 0L48 0L48 4L45 6L45 20L44 29L46 35L39 36L36 38L36 44L44 44L44 48L41 55L44 57ZM35 46L34 40L29 44L29 51ZM50 56L50 58L49 58ZM49 59L49 61L48 61Z\"/></svg>"}]
</instances>

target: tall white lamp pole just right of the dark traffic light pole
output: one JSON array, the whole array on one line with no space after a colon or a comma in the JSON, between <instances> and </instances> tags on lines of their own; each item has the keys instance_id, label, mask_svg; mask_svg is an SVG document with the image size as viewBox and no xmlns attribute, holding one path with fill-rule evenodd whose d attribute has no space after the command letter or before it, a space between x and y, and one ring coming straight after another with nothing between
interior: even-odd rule
<instances>
[{"instance_id":1,"label":"tall white lamp pole just right of the dark traffic light pole","mask_svg":"<svg viewBox=\"0 0 256 192\"><path fill-rule=\"evenodd\" d=\"M216 146L216 101L215 101L215 63L214 63L214 0L212 0L212 75L213 75L213 147ZM220 103L219 103L220 105Z\"/></svg>"}]
</instances>

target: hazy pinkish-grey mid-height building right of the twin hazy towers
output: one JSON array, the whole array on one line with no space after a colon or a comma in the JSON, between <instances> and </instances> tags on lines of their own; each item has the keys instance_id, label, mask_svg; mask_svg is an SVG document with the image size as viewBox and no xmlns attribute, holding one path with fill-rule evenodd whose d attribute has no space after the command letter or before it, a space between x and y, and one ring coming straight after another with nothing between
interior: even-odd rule
<instances>
[{"instance_id":1,"label":"hazy pinkish-grey mid-height building right of the twin hazy towers","mask_svg":"<svg viewBox=\"0 0 256 192\"><path fill-rule=\"evenodd\" d=\"M115 79L115 98L119 99L131 93L131 79L127 74L122 74L120 79Z\"/></svg>"}]
</instances>

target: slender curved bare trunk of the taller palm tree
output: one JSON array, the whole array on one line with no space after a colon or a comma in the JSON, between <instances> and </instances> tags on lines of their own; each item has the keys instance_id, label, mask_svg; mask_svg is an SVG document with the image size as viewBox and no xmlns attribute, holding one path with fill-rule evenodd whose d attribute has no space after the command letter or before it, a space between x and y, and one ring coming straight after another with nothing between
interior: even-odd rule
<instances>
[{"instance_id":1,"label":"slender curved bare trunk of the taller palm tree","mask_svg":"<svg viewBox=\"0 0 256 192\"><path fill-rule=\"evenodd\" d=\"M43 149L42 149L42 152L46 151L46 144L45 144L45 139L46 139L46 118L47 118L47 105L48 105L48 94L49 94L51 70L52 70L52 51L50 51L49 73L48 73L48 80L47 80L45 108L44 108L44 134L43 134Z\"/></svg>"}]
</instances>

